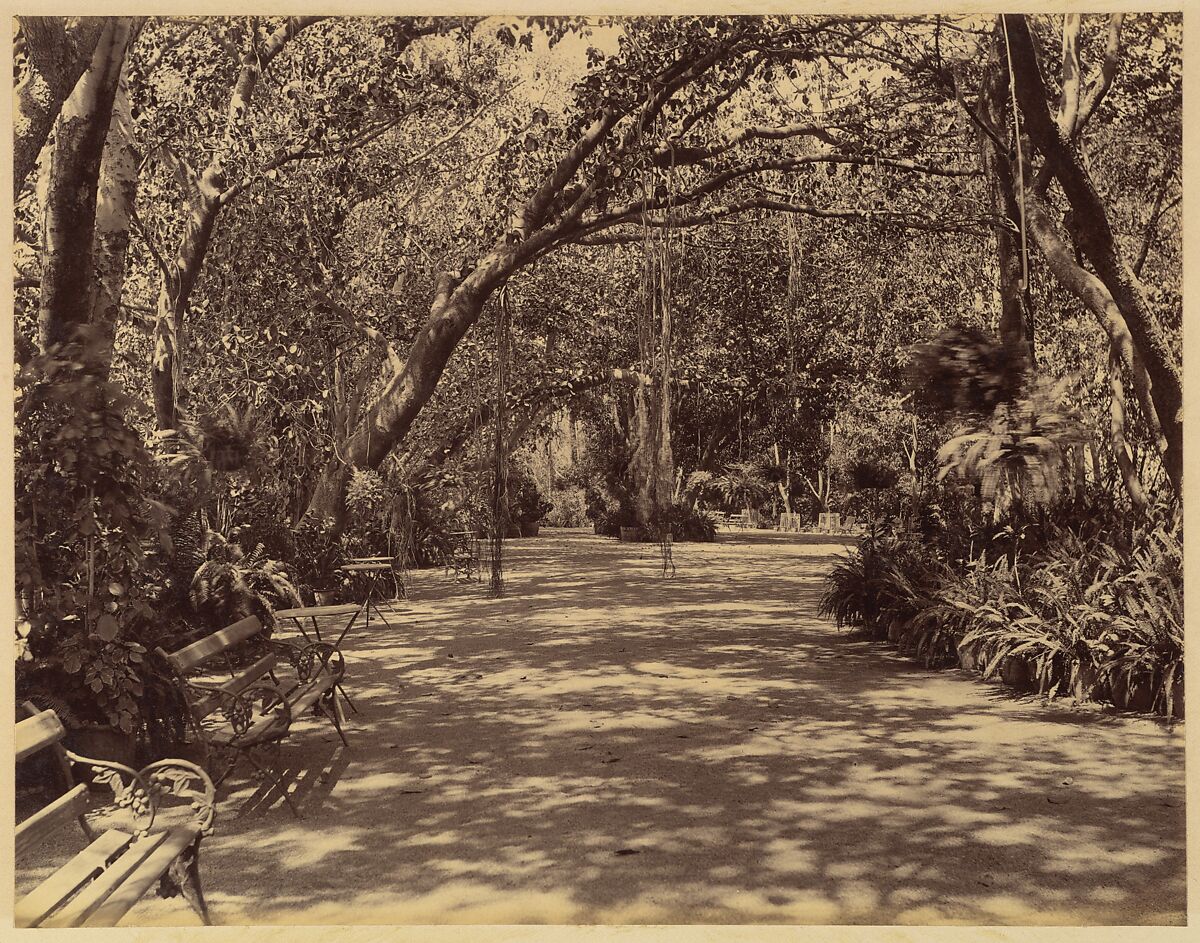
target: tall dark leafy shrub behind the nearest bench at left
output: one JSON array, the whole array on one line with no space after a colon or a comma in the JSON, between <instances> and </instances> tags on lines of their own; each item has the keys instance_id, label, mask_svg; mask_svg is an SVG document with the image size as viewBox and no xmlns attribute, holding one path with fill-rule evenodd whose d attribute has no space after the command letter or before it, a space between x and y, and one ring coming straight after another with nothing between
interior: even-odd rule
<instances>
[{"instance_id":1,"label":"tall dark leafy shrub behind the nearest bench at left","mask_svg":"<svg viewBox=\"0 0 1200 943\"><path fill-rule=\"evenodd\" d=\"M142 543L169 542L167 512L146 497L152 462L125 419L138 407L96 376L94 341L83 331L18 377L17 690L152 747L180 717L169 679L148 660L161 585Z\"/></svg>"}]
</instances>

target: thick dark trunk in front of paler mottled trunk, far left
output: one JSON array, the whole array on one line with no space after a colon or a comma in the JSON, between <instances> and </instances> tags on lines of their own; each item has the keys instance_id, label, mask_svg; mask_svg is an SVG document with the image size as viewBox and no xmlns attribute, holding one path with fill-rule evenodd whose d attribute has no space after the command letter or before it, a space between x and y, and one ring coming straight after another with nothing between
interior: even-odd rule
<instances>
[{"instance_id":1,"label":"thick dark trunk in front of paler mottled trunk, far left","mask_svg":"<svg viewBox=\"0 0 1200 943\"><path fill-rule=\"evenodd\" d=\"M133 29L127 17L104 23L91 64L62 107L46 198L38 310L42 349L70 340L91 320L100 166Z\"/></svg>"}]
</instances>

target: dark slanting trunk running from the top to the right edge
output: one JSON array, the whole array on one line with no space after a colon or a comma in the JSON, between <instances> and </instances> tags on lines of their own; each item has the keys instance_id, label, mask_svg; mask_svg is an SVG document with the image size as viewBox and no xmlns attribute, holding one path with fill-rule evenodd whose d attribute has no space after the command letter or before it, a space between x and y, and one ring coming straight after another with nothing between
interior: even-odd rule
<instances>
[{"instance_id":1,"label":"dark slanting trunk running from the top to the right edge","mask_svg":"<svg viewBox=\"0 0 1200 943\"><path fill-rule=\"evenodd\" d=\"M1030 138L1045 156L1070 204L1068 228L1120 308L1151 380L1151 397L1166 440L1163 466L1183 493L1183 382L1180 364L1150 306L1141 281L1122 257L1108 210L1078 148L1050 114L1033 37L1021 14L1003 14L1013 55L1013 82Z\"/></svg>"}]
</instances>

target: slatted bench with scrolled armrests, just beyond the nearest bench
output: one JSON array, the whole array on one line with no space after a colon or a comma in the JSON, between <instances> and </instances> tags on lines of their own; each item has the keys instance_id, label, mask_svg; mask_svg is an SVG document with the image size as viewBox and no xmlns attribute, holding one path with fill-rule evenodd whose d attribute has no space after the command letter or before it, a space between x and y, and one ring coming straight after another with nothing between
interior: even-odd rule
<instances>
[{"instance_id":1,"label":"slatted bench with scrolled armrests, just beyond the nearest bench","mask_svg":"<svg viewBox=\"0 0 1200 943\"><path fill-rule=\"evenodd\" d=\"M266 643L270 650L265 655L235 669L232 651L258 635L262 627L258 618L250 615L174 654L161 649L160 653L182 683L193 727L205 751L205 762L210 762L214 752L226 756L224 769L216 777L216 785L220 786L238 761L246 757L254 769L280 787L288 807L300 818L300 811L287 789L254 752L277 746L288 735L292 721L310 709L329 717L342 743L349 746L342 732L341 705L337 702L346 661L341 650L328 642L300 645L272 639ZM218 659L224 661L228 680L215 680L211 668L205 668ZM289 662L295 672L295 679L289 683L281 683L276 677L281 659ZM198 674L202 677L198 678Z\"/></svg>"}]
</instances>

